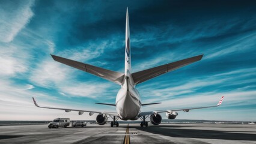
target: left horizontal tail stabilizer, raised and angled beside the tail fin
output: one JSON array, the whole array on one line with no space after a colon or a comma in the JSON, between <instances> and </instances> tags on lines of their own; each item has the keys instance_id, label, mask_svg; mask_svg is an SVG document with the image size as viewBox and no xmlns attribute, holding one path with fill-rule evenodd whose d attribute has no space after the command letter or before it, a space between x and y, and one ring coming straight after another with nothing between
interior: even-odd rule
<instances>
[{"instance_id":1,"label":"left horizontal tail stabilizer, raised and angled beside the tail fin","mask_svg":"<svg viewBox=\"0 0 256 144\"><path fill-rule=\"evenodd\" d=\"M71 59L62 58L60 56L51 55L55 61L61 62L62 64L69 65L70 67L78 68L79 70L85 71L87 73L93 74L95 76L101 77L103 79L109 80L111 82L121 85L123 83L123 73L118 73L116 71L107 70L105 68L96 67L90 64L84 64L82 62L73 61Z\"/></svg>"}]
</instances>

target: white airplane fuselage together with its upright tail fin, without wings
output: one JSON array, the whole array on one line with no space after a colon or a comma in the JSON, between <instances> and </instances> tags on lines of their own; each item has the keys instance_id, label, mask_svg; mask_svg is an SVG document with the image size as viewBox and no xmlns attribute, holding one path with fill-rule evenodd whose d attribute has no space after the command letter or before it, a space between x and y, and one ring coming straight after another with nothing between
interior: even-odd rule
<instances>
[{"instance_id":1,"label":"white airplane fuselage together with its upright tail fin, without wings","mask_svg":"<svg viewBox=\"0 0 256 144\"><path fill-rule=\"evenodd\" d=\"M120 119L136 120L138 119L139 112L141 111L141 100L139 97L139 92L135 88L131 74L132 67L130 57L130 29L128 9L126 13L126 46L124 61L124 80L123 84L121 85L121 89L117 93L115 105Z\"/></svg>"}]
</instances>

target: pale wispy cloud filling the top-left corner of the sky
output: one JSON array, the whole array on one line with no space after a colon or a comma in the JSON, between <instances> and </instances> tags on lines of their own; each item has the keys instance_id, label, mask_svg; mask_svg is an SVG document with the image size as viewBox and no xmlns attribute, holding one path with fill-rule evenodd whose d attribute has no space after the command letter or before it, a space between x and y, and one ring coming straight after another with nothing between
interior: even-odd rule
<instances>
[{"instance_id":1,"label":"pale wispy cloud filling the top-left corner of the sky","mask_svg":"<svg viewBox=\"0 0 256 144\"><path fill-rule=\"evenodd\" d=\"M0 2L0 41L8 43L25 27L34 13L32 1Z\"/></svg>"}]
</instances>

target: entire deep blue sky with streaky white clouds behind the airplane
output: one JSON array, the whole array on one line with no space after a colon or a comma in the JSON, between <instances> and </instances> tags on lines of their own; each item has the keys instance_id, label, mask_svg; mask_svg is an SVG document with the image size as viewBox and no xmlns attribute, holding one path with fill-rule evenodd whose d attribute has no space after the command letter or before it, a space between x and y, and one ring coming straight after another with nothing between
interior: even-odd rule
<instances>
[{"instance_id":1,"label":"entire deep blue sky with streaky white clouds behind the airplane","mask_svg":"<svg viewBox=\"0 0 256 144\"><path fill-rule=\"evenodd\" d=\"M204 54L136 86L142 111L177 119L256 121L255 1L0 1L0 120L94 120L38 105L115 112L120 85L60 64L50 53L124 72L126 7L132 71ZM165 113L162 118L166 119Z\"/></svg>"}]
</instances>

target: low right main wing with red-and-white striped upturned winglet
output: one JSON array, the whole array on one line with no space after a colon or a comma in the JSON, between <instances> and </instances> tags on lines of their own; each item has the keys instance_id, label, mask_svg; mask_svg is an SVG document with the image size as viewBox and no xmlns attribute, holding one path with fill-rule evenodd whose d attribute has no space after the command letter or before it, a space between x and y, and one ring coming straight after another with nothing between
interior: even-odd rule
<instances>
[{"instance_id":1,"label":"low right main wing with red-and-white striped upturned winglet","mask_svg":"<svg viewBox=\"0 0 256 144\"><path fill-rule=\"evenodd\" d=\"M163 112L177 112L177 111L184 111L184 112L189 112L189 110L194 110L194 109L205 109L205 108L210 108L210 107L218 107L222 104L222 101L224 99L224 96L221 97L221 100L219 100L219 103L215 106L206 106L206 107L193 107L193 108L185 108L185 109L169 109L169 110L155 110L155 111L150 111L150 112L141 112L139 113L139 116L146 116L146 115L151 115L151 114L156 114L156 113L163 113Z\"/></svg>"}]
</instances>

